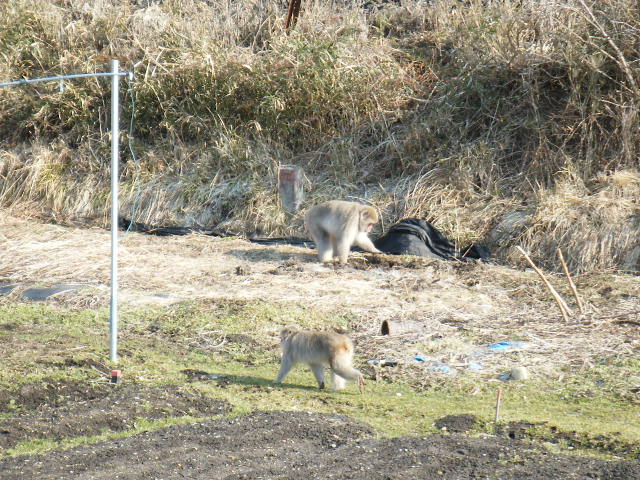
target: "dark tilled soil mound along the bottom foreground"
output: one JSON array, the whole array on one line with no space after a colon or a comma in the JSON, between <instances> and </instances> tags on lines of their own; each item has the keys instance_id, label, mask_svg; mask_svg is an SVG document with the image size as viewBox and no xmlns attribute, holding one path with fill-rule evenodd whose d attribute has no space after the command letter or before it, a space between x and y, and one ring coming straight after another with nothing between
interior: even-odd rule
<instances>
[{"instance_id":1,"label":"dark tilled soil mound along the bottom foreground","mask_svg":"<svg viewBox=\"0 0 640 480\"><path fill-rule=\"evenodd\" d=\"M373 438L339 415L260 412L64 452L5 458L3 479L640 478L638 462L552 455L505 438Z\"/></svg>"}]
</instances>

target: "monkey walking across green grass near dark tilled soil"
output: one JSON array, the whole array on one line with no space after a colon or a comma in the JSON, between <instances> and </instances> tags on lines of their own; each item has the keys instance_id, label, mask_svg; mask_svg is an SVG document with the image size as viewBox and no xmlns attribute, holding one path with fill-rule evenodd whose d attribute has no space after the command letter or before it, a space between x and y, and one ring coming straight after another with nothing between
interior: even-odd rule
<instances>
[{"instance_id":1,"label":"monkey walking across green grass near dark tilled soil","mask_svg":"<svg viewBox=\"0 0 640 480\"><path fill-rule=\"evenodd\" d=\"M324 388L324 367L332 372L333 389L345 387L345 380L358 383L364 391L364 377L353 368L353 342L346 335L335 332L312 332L285 328L280 332L282 359L275 383L281 383L296 363L306 363Z\"/></svg>"}]
</instances>

